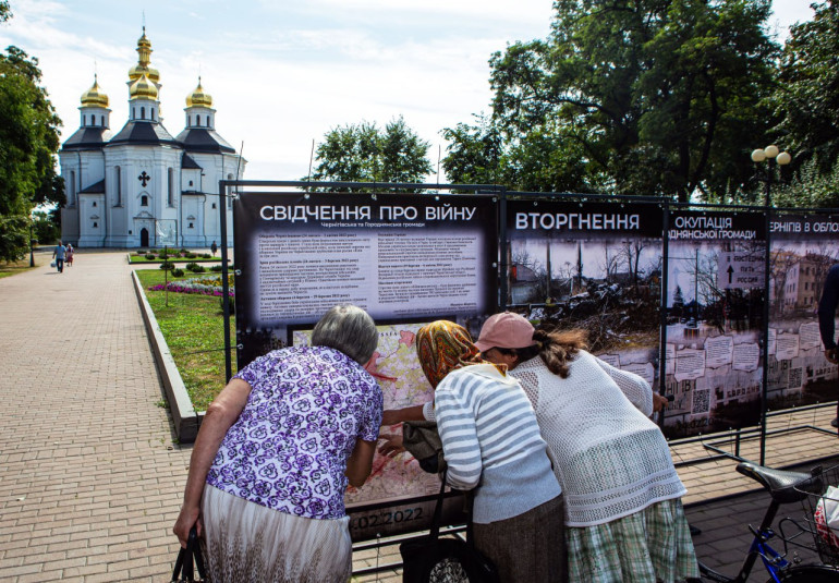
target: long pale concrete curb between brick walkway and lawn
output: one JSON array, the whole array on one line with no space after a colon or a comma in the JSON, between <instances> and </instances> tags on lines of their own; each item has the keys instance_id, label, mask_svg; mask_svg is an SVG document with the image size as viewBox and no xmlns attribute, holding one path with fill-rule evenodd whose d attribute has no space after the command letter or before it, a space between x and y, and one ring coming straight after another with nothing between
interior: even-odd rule
<instances>
[{"instance_id":1,"label":"long pale concrete curb between brick walkway and lawn","mask_svg":"<svg viewBox=\"0 0 839 583\"><path fill-rule=\"evenodd\" d=\"M204 411L195 411L181 378L181 373L178 372L178 365L175 365L163 333L157 325L155 313L151 311L148 300L146 300L143 284L139 282L135 271L131 272L131 277L134 280L134 291L137 293L137 302L143 314L143 321L146 324L148 340L151 342L151 349L155 352L157 369L163 381L166 399L169 401L169 410L174 422L174 432L178 434L178 440L181 444L192 444L195 441L195 436L198 435L198 427L200 427L200 422L204 420Z\"/></svg>"}]
</instances>

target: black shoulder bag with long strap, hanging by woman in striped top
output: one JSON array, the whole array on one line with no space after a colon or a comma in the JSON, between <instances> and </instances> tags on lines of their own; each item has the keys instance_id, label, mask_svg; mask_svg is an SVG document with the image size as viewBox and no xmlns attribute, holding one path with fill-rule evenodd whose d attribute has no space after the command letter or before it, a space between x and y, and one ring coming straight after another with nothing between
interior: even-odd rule
<instances>
[{"instance_id":1,"label":"black shoulder bag with long strap, hanging by woman in striped top","mask_svg":"<svg viewBox=\"0 0 839 583\"><path fill-rule=\"evenodd\" d=\"M440 538L445 491L443 475L430 532L399 545L403 583L499 583L493 561L472 544L461 538Z\"/></svg>"}]
</instances>

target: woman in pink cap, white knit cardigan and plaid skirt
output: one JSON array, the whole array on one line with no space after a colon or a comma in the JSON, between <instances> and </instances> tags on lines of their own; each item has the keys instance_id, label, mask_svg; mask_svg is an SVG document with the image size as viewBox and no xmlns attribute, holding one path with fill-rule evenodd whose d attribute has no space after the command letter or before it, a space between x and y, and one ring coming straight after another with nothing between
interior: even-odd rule
<instances>
[{"instance_id":1,"label":"woman in pink cap, white knit cardigan and plaid skirt","mask_svg":"<svg viewBox=\"0 0 839 583\"><path fill-rule=\"evenodd\" d=\"M670 449L648 418L640 376L585 350L585 333L534 330L497 314L475 345L506 364L533 403L566 498L570 581L664 582L698 578Z\"/></svg>"}]
</instances>

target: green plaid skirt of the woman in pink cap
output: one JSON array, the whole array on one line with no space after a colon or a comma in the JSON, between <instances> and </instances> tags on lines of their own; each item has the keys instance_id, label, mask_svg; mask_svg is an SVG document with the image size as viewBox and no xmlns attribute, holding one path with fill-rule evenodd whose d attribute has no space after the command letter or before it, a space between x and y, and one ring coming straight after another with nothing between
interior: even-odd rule
<instances>
[{"instance_id":1,"label":"green plaid skirt of the woman in pink cap","mask_svg":"<svg viewBox=\"0 0 839 583\"><path fill-rule=\"evenodd\" d=\"M674 583L698 578L680 499L596 526L566 526L572 583Z\"/></svg>"}]
</instances>

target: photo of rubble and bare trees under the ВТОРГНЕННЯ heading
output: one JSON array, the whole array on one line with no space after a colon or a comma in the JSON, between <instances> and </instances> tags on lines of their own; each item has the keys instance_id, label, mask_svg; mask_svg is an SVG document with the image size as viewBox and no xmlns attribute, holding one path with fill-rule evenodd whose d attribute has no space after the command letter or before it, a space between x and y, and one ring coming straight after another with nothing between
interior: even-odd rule
<instances>
[{"instance_id":1,"label":"photo of rubble and bare trees under the \u0412\u0422\u041e\u0420\u0413\u041d\u0415\u041d\u041d\u042f heading","mask_svg":"<svg viewBox=\"0 0 839 583\"><path fill-rule=\"evenodd\" d=\"M507 250L508 305L534 324L588 331L589 349L657 385L661 240L519 238Z\"/></svg>"}]
</instances>

